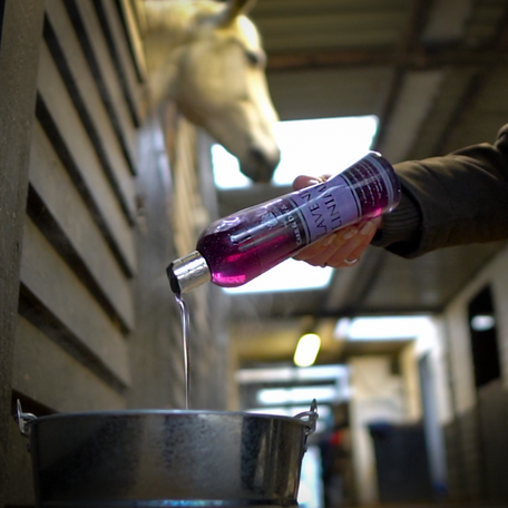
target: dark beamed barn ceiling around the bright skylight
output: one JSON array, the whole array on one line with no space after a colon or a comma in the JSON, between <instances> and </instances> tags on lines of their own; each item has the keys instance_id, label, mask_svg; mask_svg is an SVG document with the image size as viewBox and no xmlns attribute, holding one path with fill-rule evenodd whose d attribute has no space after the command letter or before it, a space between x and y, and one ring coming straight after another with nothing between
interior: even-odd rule
<instances>
[{"instance_id":1,"label":"dark beamed barn ceiling around the bright skylight","mask_svg":"<svg viewBox=\"0 0 508 508\"><path fill-rule=\"evenodd\" d=\"M397 163L492 141L508 119L507 0L257 0L251 17L283 120L377 115L373 148ZM222 192L221 213L274 193ZM502 246L414 261L371 247L326 290L235 295L241 364L291 361L301 330L344 315L439 312ZM321 362L343 356L332 345Z\"/></svg>"}]
</instances>

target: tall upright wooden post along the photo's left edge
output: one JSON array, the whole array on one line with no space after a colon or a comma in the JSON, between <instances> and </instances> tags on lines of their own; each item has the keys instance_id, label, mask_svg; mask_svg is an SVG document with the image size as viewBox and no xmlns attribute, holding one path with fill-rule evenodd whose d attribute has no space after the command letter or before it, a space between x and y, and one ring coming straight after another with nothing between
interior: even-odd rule
<instances>
[{"instance_id":1,"label":"tall upright wooden post along the photo's left edge","mask_svg":"<svg viewBox=\"0 0 508 508\"><path fill-rule=\"evenodd\" d=\"M8 462L22 226L43 2L0 2L0 506L16 481Z\"/></svg>"}]
</instances>

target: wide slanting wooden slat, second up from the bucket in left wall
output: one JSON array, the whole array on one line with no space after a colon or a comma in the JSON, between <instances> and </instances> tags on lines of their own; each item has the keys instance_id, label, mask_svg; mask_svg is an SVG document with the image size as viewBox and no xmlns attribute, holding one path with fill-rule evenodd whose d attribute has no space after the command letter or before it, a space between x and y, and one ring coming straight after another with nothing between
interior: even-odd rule
<instances>
[{"instance_id":1,"label":"wide slanting wooden slat, second up from the bucket in left wall","mask_svg":"<svg viewBox=\"0 0 508 508\"><path fill-rule=\"evenodd\" d=\"M118 326L28 217L21 282L33 299L27 315L32 312L36 320L41 313L40 325L53 328L56 338L87 356L90 368L111 375L123 387L129 384L127 343Z\"/></svg>"}]
</instances>

